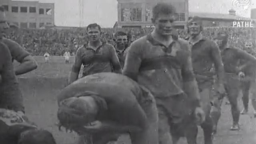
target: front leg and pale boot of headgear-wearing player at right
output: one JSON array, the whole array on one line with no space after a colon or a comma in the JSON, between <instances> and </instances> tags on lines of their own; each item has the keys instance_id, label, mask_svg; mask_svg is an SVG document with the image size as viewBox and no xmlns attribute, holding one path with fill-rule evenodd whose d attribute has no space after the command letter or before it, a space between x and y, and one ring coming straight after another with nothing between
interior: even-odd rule
<instances>
[{"instance_id":1,"label":"front leg and pale boot of headgear-wearing player at right","mask_svg":"<svg viewBox=\"0 0 256 144\"><path fill-rule=\"evenodd\" d=\"M238 108L238 95L241 90L240 81L232 76L226 76L227 82L225 84L228 101L231 106L231 113L233 118L233 125L230 130L239 130L240 110Z\"/></svg>"}]
</instances>

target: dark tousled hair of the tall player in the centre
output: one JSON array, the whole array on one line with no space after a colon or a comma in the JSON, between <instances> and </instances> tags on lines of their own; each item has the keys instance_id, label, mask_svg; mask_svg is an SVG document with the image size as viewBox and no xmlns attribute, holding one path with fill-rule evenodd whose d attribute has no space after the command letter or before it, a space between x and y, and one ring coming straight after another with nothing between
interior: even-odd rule
<instances>
[{"instance_id":1,"label":"dark tousled hair of the tall player in the centre","mask_svg":"<svg viewBox=\"0 0 256 144\"><path fill-rule=\"evenodd\" d=\"M175 14L176 9L172 4L159 2L154 6L153 10L153 18L152 22L155 22L155 20L158 18L159 14Z\"/></svg>"}]
</instances>

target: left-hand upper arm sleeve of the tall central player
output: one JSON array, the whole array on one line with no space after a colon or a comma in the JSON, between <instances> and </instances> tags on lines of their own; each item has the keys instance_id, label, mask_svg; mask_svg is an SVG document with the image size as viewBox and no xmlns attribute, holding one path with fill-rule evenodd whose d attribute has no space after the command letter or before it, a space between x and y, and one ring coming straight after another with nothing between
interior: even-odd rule
<instances>
[{"instance_id":1,"label":"left-hand upper arm sleeve of the tall central player","mask_svg":"<svg viewBox=\"0 0 256 144\"><path fill-rule=\"evenodd\" d=\"M139 68L142 62L141 46L137 42L130 45L126 52L126 58L124 61L123 74L129 78L137 81Z\"/></svg>"}]
</instances>

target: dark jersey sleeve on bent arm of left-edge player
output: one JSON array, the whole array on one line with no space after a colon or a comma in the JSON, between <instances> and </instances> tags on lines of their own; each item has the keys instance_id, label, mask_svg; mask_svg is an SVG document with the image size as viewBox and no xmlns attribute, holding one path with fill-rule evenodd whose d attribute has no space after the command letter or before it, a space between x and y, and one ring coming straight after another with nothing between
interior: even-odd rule
<instances>
[{"instance_id":1,"label":"dark jersey sleeve on bent arm of left-edge player","mask_svg":"<svg viewBox=\"0 0 256 144\"><path fill-rule=\"evenodd\" d=\"M22 62L22 60L26 57L29 56L30 53L27 52L20 44L17 42L14 42L9 39L4 39L4 43L8 46L12 58L16 60L17 62Z\"/></svg>"}]
</instances>

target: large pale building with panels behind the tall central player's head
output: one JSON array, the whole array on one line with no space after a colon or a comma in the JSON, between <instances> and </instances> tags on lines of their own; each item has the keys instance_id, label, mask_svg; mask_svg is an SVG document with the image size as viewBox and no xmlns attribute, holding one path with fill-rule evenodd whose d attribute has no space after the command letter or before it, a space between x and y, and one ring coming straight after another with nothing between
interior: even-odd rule
<instances>
[{"instance_id":1,"label":"large pale building with panels behind the tall central player's head","mask_svg":"<svg viewBox=\"0 0 256 144\"><path fill-rule=\"evenodd\" d=\"M144 28L151 26L152 8L157 2L171 3L176 7L176 27L184 29L188 20L188 0L117 0L117 28Z\"/></svg>"}]
</instances>

